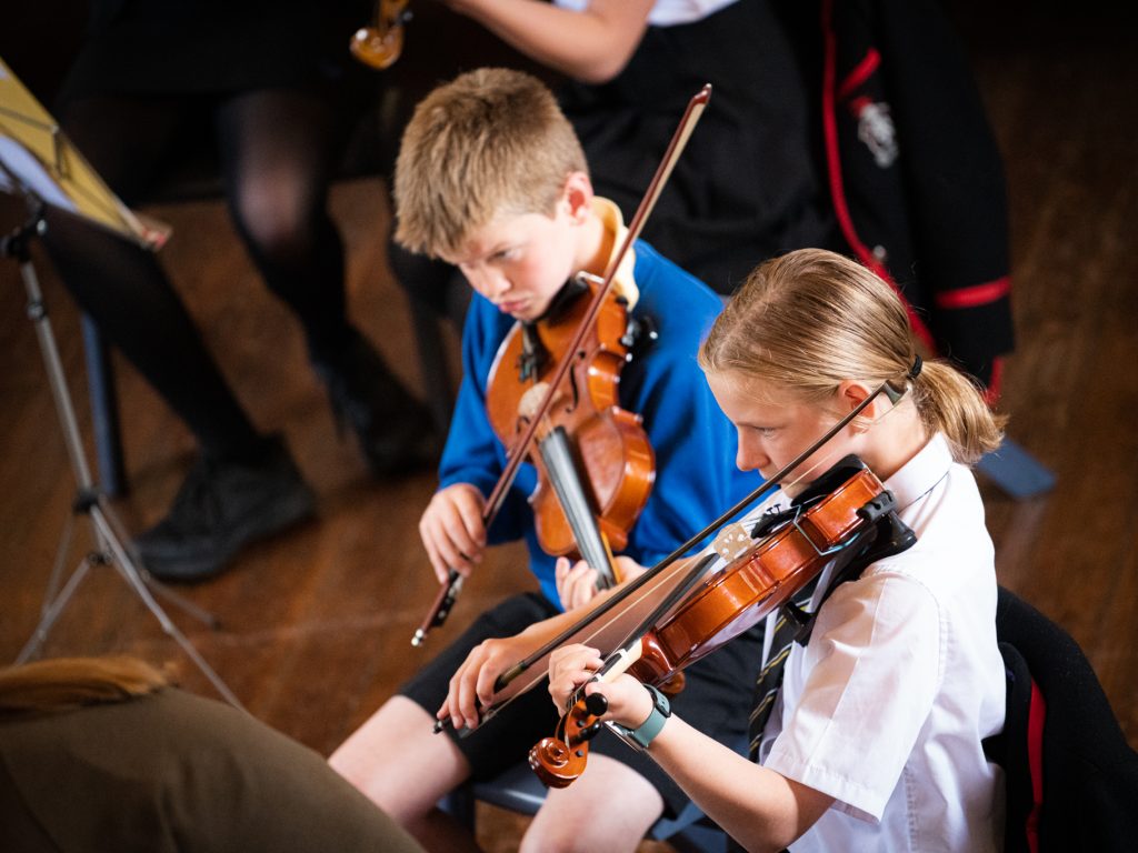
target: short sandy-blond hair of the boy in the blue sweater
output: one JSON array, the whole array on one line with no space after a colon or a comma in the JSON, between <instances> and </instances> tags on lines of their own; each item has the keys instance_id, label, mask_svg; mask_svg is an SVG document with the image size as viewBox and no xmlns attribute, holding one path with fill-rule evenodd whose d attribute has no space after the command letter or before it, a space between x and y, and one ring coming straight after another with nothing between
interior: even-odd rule
<instances>
[{"instance_id":1,"label":"short sandy-blond hair of the boy in the blue sweater","mask_svg":"<svg viewBox=\"0 0 1138 853\"><path fill-rule=\"evenodd\" d=\"M552 216L572 172L588 167L549 88L506 68L468 72L428 94L395 164L395 239L454 257L498 215Z\"/></svg>"}]
</instances>

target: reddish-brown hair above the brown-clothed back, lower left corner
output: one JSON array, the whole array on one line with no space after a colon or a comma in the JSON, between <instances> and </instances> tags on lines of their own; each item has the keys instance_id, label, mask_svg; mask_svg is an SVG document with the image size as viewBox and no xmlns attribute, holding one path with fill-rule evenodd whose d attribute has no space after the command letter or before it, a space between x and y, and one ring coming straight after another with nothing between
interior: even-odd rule
<instances>
[{"instance_id":1,"label":"reddish-brown hair above the brown-clothed back, lower left corner","mask_svg":"<svg viewBox=\"0 0 1138 853\"><path fill-rule=\"evenodd\" d=\"M0 670L0 719L125 702L160 690L167 677L135 657L58 657Z\"/></svg>"}]
</instances>

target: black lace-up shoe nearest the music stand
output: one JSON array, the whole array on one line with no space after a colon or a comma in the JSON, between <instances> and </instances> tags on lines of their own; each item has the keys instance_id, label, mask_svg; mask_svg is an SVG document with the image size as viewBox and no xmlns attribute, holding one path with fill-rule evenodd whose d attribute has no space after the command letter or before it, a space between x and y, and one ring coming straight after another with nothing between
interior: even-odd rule
<instances>
[{"instance_id":1,"label":"black lace-up shoe nearest the music stand","mask_svg":"<svg viewBox=\"0 0 1138 853\"><path fill-rule=\"evenodd\" d=\"M315 508L312 489L273 437L254 462L203 455L166 517L138 537L134 548L159 580L205 580L225 569L245 545L279 533Z\"/></svg>"}]
</instances>

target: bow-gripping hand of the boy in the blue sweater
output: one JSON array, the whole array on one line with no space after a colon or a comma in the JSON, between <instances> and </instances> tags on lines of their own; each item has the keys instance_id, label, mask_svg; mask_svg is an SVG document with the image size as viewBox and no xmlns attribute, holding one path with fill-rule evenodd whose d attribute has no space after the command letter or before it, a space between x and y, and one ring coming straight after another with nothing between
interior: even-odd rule
<instances>
[{"instance_id":1,"label":"bow-gripping hand of the boy in the blue sweater","mask_svg":"<svg viewBox=\"0 0 1138 853\"><path fill-rule=\"evenodd\" d=\"M483 561L486 549L486 528L483 510L486 499L470 483L454 483L439 489L430 499L419 520L419 536L423 540L439 583L446 583L450 570L463 577Z\"/></svg>"}]
</instances>

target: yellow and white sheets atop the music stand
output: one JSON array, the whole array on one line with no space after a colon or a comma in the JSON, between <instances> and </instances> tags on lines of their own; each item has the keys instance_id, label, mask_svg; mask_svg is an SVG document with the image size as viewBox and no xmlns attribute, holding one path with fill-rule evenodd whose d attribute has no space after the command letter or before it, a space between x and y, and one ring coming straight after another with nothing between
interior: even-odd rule
<instances>
[{"instance_id":1,"label":"yellow and white sheets atop the music stand","mask_svg":"<svg viewBox=\"0 0 1138 853\"><path fill-rule=\"evenodd\" d=\"M88 164L23 83L0 59L0 190L31 190L143 246L157 248L170 229L131 212ZM10 175L22 187L13 188Z\"/></svg>"}]
</instances>

